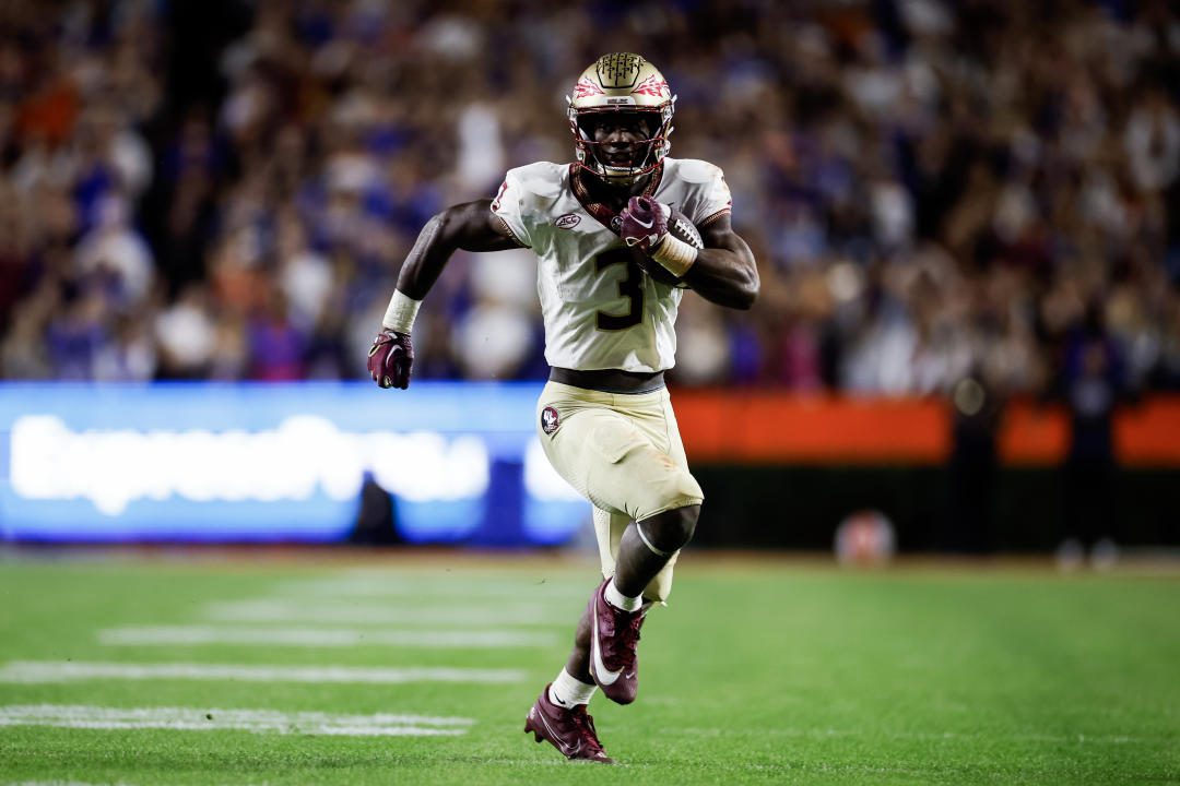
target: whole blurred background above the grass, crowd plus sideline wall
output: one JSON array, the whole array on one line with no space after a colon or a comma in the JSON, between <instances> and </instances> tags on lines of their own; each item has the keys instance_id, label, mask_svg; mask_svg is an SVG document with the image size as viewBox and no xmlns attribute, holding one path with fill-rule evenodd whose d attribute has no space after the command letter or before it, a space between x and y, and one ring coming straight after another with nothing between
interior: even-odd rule
<instances>
[{"instance_id":1,"label":"whole blurred background above the grass, crowd plus sideline wall","mask_svg":"<svg viewBox=\"0 0 1180 786\"><path fill-rule=\"evenodd\" d=\"M1163 0L2 1L0 539L577 542L529 252L455 255L409 391L365 359L418 230L571 160L611 51L762 276L677 323L699 546L1180 547Z\"/></svg>"}]
</instances>

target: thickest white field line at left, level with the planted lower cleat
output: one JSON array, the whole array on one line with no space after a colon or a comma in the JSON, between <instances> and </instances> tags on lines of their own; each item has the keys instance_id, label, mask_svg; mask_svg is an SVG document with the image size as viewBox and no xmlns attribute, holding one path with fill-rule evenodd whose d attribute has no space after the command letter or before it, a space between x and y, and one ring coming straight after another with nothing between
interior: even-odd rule
<instances>
[{"instance_id":1,"label":"thickest white field line at left, level with the planted lower cleat","mask_svg":"<svg viewBox=\"0 0 1180 786\"><path fill-rule=\"evenodd\" d=\"M337 715L274 709L210 709L195 707L91 707L79 705L0 706L0 726L59 728L240 729L255 734L326 734L336 737L438 737L466 733L473 718L431 715Z\"/></svg>"}]
</instances>

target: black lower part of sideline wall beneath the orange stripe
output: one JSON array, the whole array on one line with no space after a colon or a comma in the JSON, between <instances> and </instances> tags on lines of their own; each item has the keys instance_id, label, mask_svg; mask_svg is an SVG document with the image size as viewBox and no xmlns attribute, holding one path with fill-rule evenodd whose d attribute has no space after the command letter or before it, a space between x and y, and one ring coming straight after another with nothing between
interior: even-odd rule
<instances>
[{"instance_id":1,"label":"black lower part of sideline wall beneath the orange stripe","mask_svg":"<svg viewBox=\"0 0 1180 786\"><path fill-rule=\"evenodd\" d=\"M982 522L962 515L949 470L937 465L728 465L693 470L706 504L696 547L831 549L837 526L877 510L896 527L903 551L1044 553L1067 535L1061 474L1049 467L1001 467ZM1121 546L1180 546L1180 477L1169 469L1123 468L1114 483Z\"/></svg>"}]
</instances>

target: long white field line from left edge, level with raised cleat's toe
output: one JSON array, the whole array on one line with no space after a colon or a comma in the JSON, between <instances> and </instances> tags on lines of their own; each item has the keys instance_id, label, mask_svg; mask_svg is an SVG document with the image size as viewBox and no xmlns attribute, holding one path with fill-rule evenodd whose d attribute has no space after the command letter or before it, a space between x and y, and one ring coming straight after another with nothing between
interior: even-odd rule
<instances>
[{"instance_id":1,"label":"long white field line from left edge, level with raised cleat's toe","mask_svg":"<svg viewBox=\"0 0 1180 786\"><path fill-rule=\"evenodd\" d=\"M235 663L101 663L13 661L0 666L0 682L41 683L81 680L234 680L237 682L523 682L511 668L249 666Z\"/></svg>"}]
</instances>

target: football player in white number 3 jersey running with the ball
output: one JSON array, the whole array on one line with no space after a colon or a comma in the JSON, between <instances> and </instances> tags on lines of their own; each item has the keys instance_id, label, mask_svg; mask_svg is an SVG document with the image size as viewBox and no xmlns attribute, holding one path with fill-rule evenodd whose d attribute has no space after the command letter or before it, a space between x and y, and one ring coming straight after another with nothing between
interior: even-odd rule
<instances>
[{"instance_id":1,"label":"football player in white number 3 jersey running with the ball","mask_svg":"<svg viewBox=\"0 0 1180 786\"><path fill-rule=\"evenodd\" d=\"M701 510L663 381L684 289L733 309L749 309L759 290L721 170L668 157L675 100L637 54L607 54L586 68L569 99L577 160L511 170L494 199L432 218L369 350L373 379L406 388L414 317L451 255L518 246L537 255L551 366L537 429L557 471L594 503L604 579L565 667L525 721L569 759L611 762L586 704L597 688L618 704L635 700L640 628L668 597Z\"/></svg>"}]
</instances>

